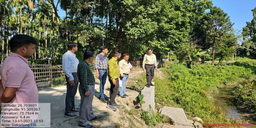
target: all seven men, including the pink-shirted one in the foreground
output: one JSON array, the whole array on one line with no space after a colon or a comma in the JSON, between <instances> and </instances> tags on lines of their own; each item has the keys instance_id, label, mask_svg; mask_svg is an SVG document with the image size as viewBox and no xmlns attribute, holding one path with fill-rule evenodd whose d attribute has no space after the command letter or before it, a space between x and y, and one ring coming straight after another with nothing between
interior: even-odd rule
<instances>
[{"instance_id":1,"label":"all seven men, including the pink-shirted one in the foreground","mask_svg":"<svg viewBox=\"0 0 256 128\"><path fill-rule=\"evenodd\" d=\"M28 60L35 52L36 41L28 35L15 35L10 40L10 54L6 57L0 68L0 102L4 103L38 103L38 90L35 83L35 76L28 66ZM79 62L74 54L77 49L77 44L70 42L67 45L68 51L63 54L62 66L65 72L67 81L67 95L65 98L65 117L76 118L79 113L79 126L93 127L88 120L97 120L100 116L95 116L92 110L92 100L95 93L95 77L89 63L94 60L94 52L85 51L83 61ZM152 86L152 78L154 77L154 68L156 65L156 56L152 54L153 49L148 49L148 54L143 58L143 70L147 72L147 87ZM109 102L107 108L116 111L115 107L120 107L116 104L115 98L118 95L120 82L120 97L125 98L128 95L125 93L127 79L130 73L129 54L123 55L121 52L115 51L113 57L108 61L106 57L108 47L100 47L100 53L95 58L96 77L100 80L100 100L107 103L104 97L104 85L108 76L111 84L109 91ZM80 83L80 84L79 84ZM81 96L80 109L75 108L75 95L77 88Z\"/></svg>"}]
</instances>

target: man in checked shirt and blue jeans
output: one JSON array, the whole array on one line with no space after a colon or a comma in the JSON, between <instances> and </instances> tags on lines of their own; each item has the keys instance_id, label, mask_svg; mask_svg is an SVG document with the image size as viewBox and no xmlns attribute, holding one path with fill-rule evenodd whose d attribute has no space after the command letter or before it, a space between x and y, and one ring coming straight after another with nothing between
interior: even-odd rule
<instances>
[{"instance_id":1,"label":"man in checked shirt and blue jeans","mask_svg":"<svg viewBox=\"0 0 256 128\"><path fill-rule=\"evenodd\" d=\"M107 69L108 69L108 58L106 57L108 54L108 47L101 46L100 54L98 54L95 58L94 67L96 70L96 77L100 80L100 101L107 103L107 100L104 97L104 86L107 80Z\"/></svg>"}]
</instances>

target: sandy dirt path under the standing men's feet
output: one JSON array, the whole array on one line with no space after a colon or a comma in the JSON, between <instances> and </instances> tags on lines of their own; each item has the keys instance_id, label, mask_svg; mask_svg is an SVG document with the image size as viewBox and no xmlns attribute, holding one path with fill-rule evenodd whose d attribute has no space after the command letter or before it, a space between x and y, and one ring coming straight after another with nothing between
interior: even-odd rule
<instances>
[{"instance_id":1,"label":"sandy dirt path under the standing men's feet","mask_svg":"<svg viewBox=\"0 0 256 128\"><path fill-rule=\"evenodd\" d=\"M128 82L131 81L132 77L137 77L143 72L142 68L134 68L131 70ZM107 80L105 85L104 94L109 98L110 84ZM140 90L126 90L127 98L116 97L117 104L121 107L117 108L117 111L112 111L106 108L107 104L101 102L99 97L99 79L96 79L95 84L95 97L93 98L93 111L95 115L101 116L100 120L91 122L94 127L148 127L145 122L141 120L133 104L135 97L140 93ZM45 88L39 90L39 102L40 103L51 103L51 127L79 127L79 118L67 118L64 117L65 112L65 96L66 86L58 86L54 88ZM80 95L77 90L76 108L79 108ZM79 113L77 113L79 115Z\"/></svg>"}]
</instances>

